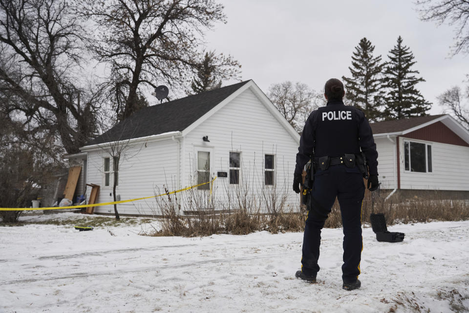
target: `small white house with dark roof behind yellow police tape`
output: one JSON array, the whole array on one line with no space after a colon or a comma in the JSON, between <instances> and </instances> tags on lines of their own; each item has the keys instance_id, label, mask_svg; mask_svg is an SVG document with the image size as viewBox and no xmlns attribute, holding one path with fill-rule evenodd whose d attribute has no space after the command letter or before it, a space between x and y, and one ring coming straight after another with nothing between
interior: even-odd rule
<instances>
[{"instance_id":1,"label":"small white house with dark roof behind yellow police tape","mask_svg":"<svg viewBox=\"0 0 469 313\"><path fill-rule=\"evenodd\" d=\"M299 135L252 80L141 109L82 147L77 156L87 155L85 180L101 186L97 202L113 200L108 150L116 142L126 147L116 189L121 200L217 177L213 184L178 194L182 210L196 209L198 196L221 208L242 206L237 196L243 196L239 199L284 201L287 210L298 209L291 181ZM119 204L118 210L151 215L158 213L156 207L150 199ZM113 207L95 212L112 213Z\"/></svg>"}]
</instances>

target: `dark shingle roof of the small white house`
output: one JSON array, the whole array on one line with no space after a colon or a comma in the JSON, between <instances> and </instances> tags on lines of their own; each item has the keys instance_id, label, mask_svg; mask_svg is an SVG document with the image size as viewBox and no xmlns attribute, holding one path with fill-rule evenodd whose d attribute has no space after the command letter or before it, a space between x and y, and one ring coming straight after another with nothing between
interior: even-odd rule
<instances>
[{"instance_id":1,"label":"dark shingle roof of the small white house","mask_svg":"<svg viewBox=\"0 0 469 313\"><path fill-rule=\"evenodd\" d=\"M249 81L143 108L89 141L86 146L183 131L247 82Z\"/></svg>"}]
</instances>

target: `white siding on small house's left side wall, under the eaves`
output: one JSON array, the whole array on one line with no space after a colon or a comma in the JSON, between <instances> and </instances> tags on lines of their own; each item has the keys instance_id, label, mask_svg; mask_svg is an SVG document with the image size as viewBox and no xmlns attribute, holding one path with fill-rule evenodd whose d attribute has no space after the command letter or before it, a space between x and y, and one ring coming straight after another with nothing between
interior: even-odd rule
<instances>
[{"instance_id":1,"label":"white siding on small house's left side wall, under the eaves","mask_svg":"<svg viewBox=\"0 0 469 313\"><path fill-rule=\"evenodd\" d=\"M121 157L116 194L120 195L121 200L128 200L149 197L155 192L163 193L164 185L168 186L169 190L176 189L177 149L178 143L172 139L132 144ZM110 186L104 186L104 157L110 156L103 150L88 153L88 183L101 186L98 203L113 201L112 175ZM88 187L88 197L89 192L90 187ZM154 207L155 203L150 199L118 204L117 209L121 214L151 215L159 213ZM113 213L114 208L112 205L98 206L95 207L95 212Z\"/></svg>"}]
</instances>

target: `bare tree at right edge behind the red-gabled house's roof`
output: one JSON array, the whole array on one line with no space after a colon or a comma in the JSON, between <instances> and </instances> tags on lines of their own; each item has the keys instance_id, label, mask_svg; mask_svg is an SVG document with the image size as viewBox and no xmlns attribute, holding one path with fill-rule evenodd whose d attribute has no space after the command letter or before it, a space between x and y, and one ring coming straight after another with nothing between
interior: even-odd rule
<instances>
[{"instance_id":1,"label":"bare tree at right edge behind the red-gabled house's roof","mask_svg":"<svg viewBox=\"0 0 469 313\"><path fill-rule=\"evenodd\" d=\"M469 85L464 92L457 86L448 89L438 96L438 101L469 131Z\"/></svg>"}]
</instances>

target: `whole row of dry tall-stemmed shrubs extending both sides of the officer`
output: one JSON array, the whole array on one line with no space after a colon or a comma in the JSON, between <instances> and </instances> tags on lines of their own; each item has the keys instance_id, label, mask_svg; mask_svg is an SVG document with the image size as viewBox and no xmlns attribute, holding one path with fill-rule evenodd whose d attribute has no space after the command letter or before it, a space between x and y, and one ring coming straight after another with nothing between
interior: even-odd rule
<instances>
[{"instance_id":1,"label":"whole row of dry tall-stemmed shrubs extending both sides of the officer","mask_svg":"<svg viewBox=\"0 0 469 313\"><path fill-rule=\"evenodd\" d=\"M155 229L149 235L195 237L245 235L261 230L271 233L304 230L306 211L301 208L299 212L291 209L287 212L287 194L285 191L278 192L275 186L264 188L261 197L256 197L254 188L249 185L224 191L229 198L228 204L224 201L215 203L214 195L208 191L189 190L184 197L190 210L189 214L186 212L183 215L177 195L170 195L165 188L167 197L157 198L159 214L155 214L162 216L162 229ZM443 193L435 195L433 200L415 198L396 201L393 198L385 200L386 195L380 191L366 192L362 203L362 222L370 223L371 213L384 213L388 225L469 219L469 201L445 200ZM341 226L341 210L336 200L324 227Z\"/></svg>"}]
</instances>

